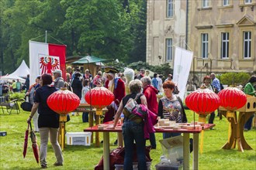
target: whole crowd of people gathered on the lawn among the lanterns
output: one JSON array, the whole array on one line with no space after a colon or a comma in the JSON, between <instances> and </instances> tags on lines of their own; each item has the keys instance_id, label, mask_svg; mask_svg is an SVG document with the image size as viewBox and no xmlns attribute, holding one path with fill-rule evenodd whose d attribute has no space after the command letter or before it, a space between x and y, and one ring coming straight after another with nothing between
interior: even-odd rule
<instances>
[{"instance_id":1,"label":"whole crowd of people gathered on the lawn among the lanterns","mask_svg":"<svg viewBox=\"0 0 256 170\"><path fill-rule=\"evenodd\" d=\"M27 81L29 81L29 76ZM124 167L127 169L132 168L133 165L132 156L130 155L133 155L134 141L137 146L139 169L147 169L144 153L147 140L147 138L144 138L144 121L140 119L134 121L123 114L123 108L126 106L128 100L131 98L137 100L138 104L144 104L148 110L158 117L168 117L170 121L175 121L176 123L186 121L182 100L178 96L178 86L172 80L171 73L164 79L163 75L157 73L154 73L154 75L150 77L144 69L140 69L139 73L135 73L134 70L126 68L123 73L120 73L116 68L106 67L103 73L102 70L99 70L98 73L93 76L89 70L85 70L85 73L82 73L81 70L77 68L72 72L71 67L67 67L66 80L63 79L61 70L54 70L53 76L49 74L37 76L35 83L30 87L27 85L29 84L27 81L25 83L25 86L28 86L26 87L26 95L29 97L29 103L33 104L27 122L30 123L31 120L33 120L35 131L40 132L40 164L42 168L47 168L48 137L50 137L50 142L56 156L54 165L63 165L64 162L60 145L57 142L59 128L58 117L53 110L50 110L46 103L47 97L62 87L73 91L81 99L81 104L86 103L85 94L88 93L90 88L104 86L112 91L115 98L112 104L107 107L108 111L104 116L103 122L114 121L112 128L116 128L119 118L123 117L122 131L126 153ZM255 83L256 76L251 76L251 79L244 87L244 92L255 96ZM216 78L214 73L211 73L209 76L203 77L202 85L199 88L208 88L215 93L219 93L221 90L220 80ZM19 92L21 89L22 85L19 83L19 80L14 80L12 90ZM159 100L157 100L157 94L162 95ZM74 113L72 113L72 115L74 115ZM213 112L209 116L209 124L213 124L214 117L215 113ZM87 112L82 114L82 121L88 122ZM248 131L251 129L251 121L252 117L250 117L245 125L245 130ZM164 133L163 138L171 138L178 135L180 135L180 133ZM148 139L150 140L151 148L156 149L157 142L154 132L150 133Z\"/></svg>"}]
</instances>

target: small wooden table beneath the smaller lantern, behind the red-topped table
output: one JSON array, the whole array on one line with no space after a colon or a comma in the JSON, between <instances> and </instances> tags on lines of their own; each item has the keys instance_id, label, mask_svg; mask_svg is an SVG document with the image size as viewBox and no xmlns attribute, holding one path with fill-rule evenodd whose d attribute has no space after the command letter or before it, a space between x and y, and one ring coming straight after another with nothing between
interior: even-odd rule
<instances>
[{"instance_id":1,"label":"small wooden table beneath the smaller lantern, behind the red-topped table","mask_svg":"<svg viewBox=\"0 0 256 170\"><path fill-rule=\"evenodd\" d=\"M106 113L108 111L107 108L103 108L102 112ZM93 114L96 112L96 109L92 107L90 104L79 104L79 106L74 110L74 112L88 112L89 113L89 127L93 126ZM95 115L95 124L101 123L101 115ZM93 143L93 133L91 137L91 143ZM95 133L95 145L96 147L99 147L99 132Z\"/></svg>"}]
</instances>

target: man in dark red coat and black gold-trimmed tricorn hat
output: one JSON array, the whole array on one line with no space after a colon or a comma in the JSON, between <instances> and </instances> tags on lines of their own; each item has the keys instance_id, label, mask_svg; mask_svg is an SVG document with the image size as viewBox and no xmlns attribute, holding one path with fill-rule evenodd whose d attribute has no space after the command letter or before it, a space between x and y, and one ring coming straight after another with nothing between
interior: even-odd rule
<instances>
[{"instance_id":1,"label":"man in dark red coat and black gold-trimmed tricorn hat","mask_svg":"<svg viewBox=\"0 0 256 170\"><path fill-rule=\"evenodd\" d=\"M126 95L123 80L119 77L115 77L115 74L118 72L118 70L112 67L105 68L105 73L107 73L108 79L106 80L106 88L114 93L115 99L112 102L111 107L108 107L109 110L106 112L103 122L112 121L116 110L119 107L119 103Z\"/></svg>"}]
</instances>

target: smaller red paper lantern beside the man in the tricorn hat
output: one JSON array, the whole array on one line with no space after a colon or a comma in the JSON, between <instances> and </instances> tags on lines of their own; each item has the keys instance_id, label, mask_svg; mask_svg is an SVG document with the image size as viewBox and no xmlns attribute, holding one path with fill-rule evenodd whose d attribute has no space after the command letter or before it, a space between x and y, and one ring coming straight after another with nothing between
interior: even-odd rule
<instances>
[{"instance_id":1,"label":"smaller red paper lantern beside the man in the tricorn hat","mask_svg":"<svg viewBox=\"0 0 256 170\"><path fill-rule=\"evenodd\" d=\"M86 102L97 109L109 106L114 98L114 94L105 87L95 87L85 95Z\"/></svg>"}]
</instances>

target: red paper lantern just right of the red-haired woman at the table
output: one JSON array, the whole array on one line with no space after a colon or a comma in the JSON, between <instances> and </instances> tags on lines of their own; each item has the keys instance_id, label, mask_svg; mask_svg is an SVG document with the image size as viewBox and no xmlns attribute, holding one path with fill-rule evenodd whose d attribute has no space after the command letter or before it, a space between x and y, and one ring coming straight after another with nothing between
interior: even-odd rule
<instances>
[{"instance_id":1,"label":"red paper lantern just right of the red-haired woman at the table","mask_svg":"<svg viewBox=\"0 0 256 170\"><path fill-rule=\"evenodd\" d=\"M209 89L199 89L185 98L185 104L195 113L206 115L220 106L220 97Z\"/></svg>"}]
</instances>

